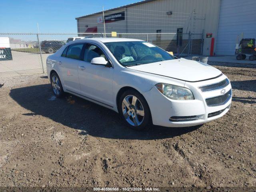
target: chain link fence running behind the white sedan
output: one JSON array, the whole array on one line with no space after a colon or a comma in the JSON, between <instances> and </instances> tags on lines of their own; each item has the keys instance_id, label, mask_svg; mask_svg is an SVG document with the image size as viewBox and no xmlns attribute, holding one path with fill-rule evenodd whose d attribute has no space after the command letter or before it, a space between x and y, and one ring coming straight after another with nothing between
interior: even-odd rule
<instances>
[{"instance_id":1,"label":"chain link fence running behind the white sedan","mask_svg":"<svg viewBox=\"0 0 256 192\"><path fill-rule=\"evenodd\" d=\"M46 72L46 58L66 43L96 37L112 37L111 33L70 33L70 34L8 34L12 60L0 60L0 78ZM151 42L174 55L189 56L202 54L202 34L177 33L117 33L118 38L133 38ZM1 44L1 42L0 42ZM1 46L0 46L1 47Z\"/></svg>"}]
</instances>

